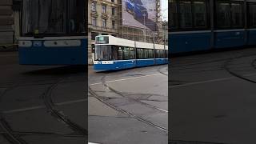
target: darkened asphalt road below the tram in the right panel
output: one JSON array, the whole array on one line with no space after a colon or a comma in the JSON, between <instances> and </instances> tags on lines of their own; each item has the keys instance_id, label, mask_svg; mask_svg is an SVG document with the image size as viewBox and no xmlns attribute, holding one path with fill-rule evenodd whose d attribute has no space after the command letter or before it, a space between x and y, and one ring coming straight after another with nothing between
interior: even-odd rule
<instances>
[{"instance_id":1,"label":"darkened asphalt road below the tram in the right panel","mask_svg":"<svg viewBox=\"0 0 256 144\"><path fill-rule=\"evenodd\" d=\"M253 144L256 49L171 58L170 143Z\"/></svg>"}]
</instances>

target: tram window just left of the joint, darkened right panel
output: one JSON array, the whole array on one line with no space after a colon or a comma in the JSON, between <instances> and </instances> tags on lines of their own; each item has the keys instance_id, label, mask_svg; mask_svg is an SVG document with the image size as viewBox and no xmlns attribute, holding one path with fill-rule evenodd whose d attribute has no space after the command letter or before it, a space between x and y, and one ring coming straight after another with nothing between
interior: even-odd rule
<instances>
[{"instance_id":1,"label":"tram window just left of the joint, darkened right panel","mask_svg":"<svg viewBox=\"0 0 256 144\"><path fill-rule=\"evenodd\" d=\"M193 2L194 8L194 26L206 26L206 2Z\"/></svg>"}]
</instances>

